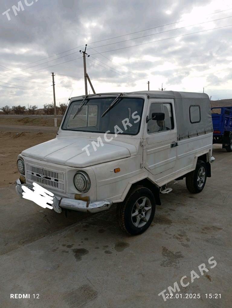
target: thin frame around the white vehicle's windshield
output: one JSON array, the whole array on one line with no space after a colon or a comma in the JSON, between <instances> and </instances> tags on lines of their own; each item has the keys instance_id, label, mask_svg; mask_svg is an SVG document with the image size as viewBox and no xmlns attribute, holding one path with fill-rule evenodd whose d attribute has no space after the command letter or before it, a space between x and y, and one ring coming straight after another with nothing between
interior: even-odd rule
<instances>
[{"instance_id":1,"label":"thin frame around the white vehicle's windshield","mask_svg":"<svg viewBox=\"0 0 232 308\"><path fill-rule=\"evenodd\" d=\"M116 97L118 95L115 95ZM82 97L83 98L83 97ZM99 99L100 97L91 97L91 98L87 98L88 99L88 103L91 101L91 100L94 100L94 99ZM104 99L107 99L107 98L114 98L114 96L112 95L109 95L109 96L104 96ZM125 96L125 97L122 97L121 99L141 99L142 100L142 108L141 108L141 115L140 116L140 123L139 123L139 126L138 126L138 131L136 134L128 134L126 132L123 132L123 133L120 133L119 135L127 135L127 136L136 136L140 133L140 128L141 128L141 122L142 122L142 116L143 116L143 111L144 111L144 103L145 103L145 99L144 97L142 96ZM105 132L96 132L96 131L90 131L90 130L81 130L81 129L72 129L72 128L63 128L64 126L64 123L65 123L65 120L67 118L67 114L68 114L68 110L71 108L71 104L74 103L74 102L80 102L82 101L83 99L74 99L70 102L68 108L67 108L67 111L65 112L65 116L63 118L63 121L62 121L62 125L61 125L61 129L63 131L72 131L72 132L86 132L86 133L95 133L95 134L104 134ZM88 103L86 105L88 105ZM112 108L113 109L113 108ZM101 118L101 116L100 116ZM109 132L108 133L109 135L114 135L115 133L114 132Z\"/></svg>"}]
</instances>

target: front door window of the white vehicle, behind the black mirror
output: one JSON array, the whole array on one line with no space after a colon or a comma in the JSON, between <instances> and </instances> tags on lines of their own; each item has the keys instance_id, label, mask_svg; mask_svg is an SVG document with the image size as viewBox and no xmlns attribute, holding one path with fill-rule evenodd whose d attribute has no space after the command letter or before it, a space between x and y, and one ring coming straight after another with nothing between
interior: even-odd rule
<instances>
[{"instance_id":1,"label":"front door window of the white vehicle, behind the black mirror","mask_svg":"<svg viewBox=\"0 0 232 308\"><path fill-rule=\"evenodd\" d=\"M149 119L152 114L157 112L164 113L164 120L150 120L147 125L148 134L164 132L174 128L172 105L170 103L151 103Z\"/></svg>"}]
</instances>

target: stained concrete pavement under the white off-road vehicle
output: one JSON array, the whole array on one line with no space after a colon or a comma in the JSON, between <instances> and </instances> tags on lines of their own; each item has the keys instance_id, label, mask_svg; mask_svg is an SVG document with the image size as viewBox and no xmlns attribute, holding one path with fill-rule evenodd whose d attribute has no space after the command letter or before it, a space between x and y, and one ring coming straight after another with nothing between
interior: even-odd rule
<instances>
[{"instance_id":1,"label":"stained concrete pavement under the white off-road vehicle","mask_svg":"<svg viewBox=\"0 0 232 308\"><path fill-rule=\"evenodd\" d=\"M204 190L195 195L184 180L172 182L173 192L161 196L152 226L136 237L120 231L115 208L68 213L66 219L21 201L13 185L1 188L0 306L231 307L232 153L214 145L213 154ZM217 261L214 268L210 257ZM202 263L209 270L203 276ZM198 275L193 283L192 270ZM180 285L183 276L187 287ZM164 302L158 293L174 282L179 299ZM17 293L31 298L10 299ZM201 298L183 298L193 293ZM221 299L206 299L206 293L220 293Z\"/></svg>"}]
</instances>

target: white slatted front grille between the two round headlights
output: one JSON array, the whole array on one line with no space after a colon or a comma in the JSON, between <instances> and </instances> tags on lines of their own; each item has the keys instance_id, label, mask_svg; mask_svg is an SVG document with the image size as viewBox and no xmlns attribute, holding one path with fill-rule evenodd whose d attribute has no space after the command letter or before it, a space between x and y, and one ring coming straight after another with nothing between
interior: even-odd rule
<instances>
[{"instance_id":1,"label":"white slatted front grille between the two round headlights","mask_svg":"<svg viewBox=\"0 0 232 308\"><path fill-rule=\"evenodd\" d=\"M65 172L26 164L26 180L65 192Z\"/></svg>"}]
</instances>

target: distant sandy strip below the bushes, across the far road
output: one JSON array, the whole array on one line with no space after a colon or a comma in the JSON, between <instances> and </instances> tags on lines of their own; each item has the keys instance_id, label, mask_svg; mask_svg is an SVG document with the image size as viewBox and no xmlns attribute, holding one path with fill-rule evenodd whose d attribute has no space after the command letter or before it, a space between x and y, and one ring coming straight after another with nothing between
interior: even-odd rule
<instances>
[{"instance_id":1,"label":"distant sandy strip below the bushes, across the far road","mask_svg":"<svg viewBox=\"0 0 232 308\"><path fill-rule=\"evenodd\" d=\"M60 124L61 117L57 118L57 125ZM54 126L54 118L47 117L0 117L0 125L29 125L29 126Z\"/></svg>"}]
</instances>

